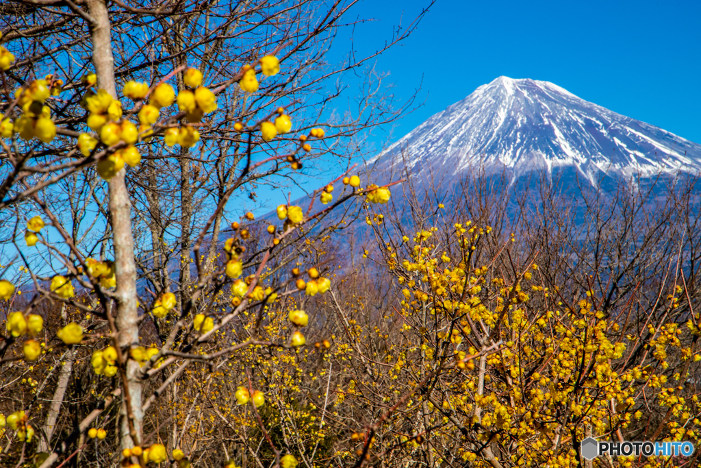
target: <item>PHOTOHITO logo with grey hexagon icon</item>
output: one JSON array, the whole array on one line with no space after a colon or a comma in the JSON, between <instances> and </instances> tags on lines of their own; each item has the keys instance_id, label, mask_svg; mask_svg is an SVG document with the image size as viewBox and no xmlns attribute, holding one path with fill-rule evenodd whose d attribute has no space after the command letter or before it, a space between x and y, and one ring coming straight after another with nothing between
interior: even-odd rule
<instances>
[{"instance_id":1,"label":"PHOTOHITO logo with grey hexagon icon","mask_svg":"<svg viewBox=\"0 0 701 468\"><path fill-rule=\"evenodd\" d=\"M581 448L582 456L587 460L594 460L599 455L606 454L612 457L627 457L629 455L690 457L694 453L694 444L691 442L599 442L593 437L584 439Z\"/></svg>"}]
</instances>

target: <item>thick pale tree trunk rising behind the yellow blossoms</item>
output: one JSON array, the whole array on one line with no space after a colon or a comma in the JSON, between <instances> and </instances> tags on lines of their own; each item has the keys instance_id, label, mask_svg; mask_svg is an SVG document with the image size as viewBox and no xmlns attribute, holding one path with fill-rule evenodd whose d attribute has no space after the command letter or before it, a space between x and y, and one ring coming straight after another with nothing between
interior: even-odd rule
<instances>
[{"instance_id":1,"label":"thick pale tree trunk rising behind the yellow blossoms","mask_svg":"<svg viewBox=\"0 0 701 468\"><path fill-rule=\"evenodd\" d=\"M113 98L117 97L114 81L109 13L104 0L88 0L88 12L92 18L90 36L93 39L93 65L97 74L97 86ZM117 345L125 351L139 341L137 315L136 263L134 261L134 237L131 228L131 203L125 184L125 169L109 180L109 217L113 233L114 269L116 276L116 328ZM109 313L109 312L108 312ZM139 381L139 364L125 359L126 379L123 385L121 446L139 445L142 433L142 385ZM129 414L130 413L130 414ZM128 419L131 419L131 424Z\"/></svg>"}]
</instances>

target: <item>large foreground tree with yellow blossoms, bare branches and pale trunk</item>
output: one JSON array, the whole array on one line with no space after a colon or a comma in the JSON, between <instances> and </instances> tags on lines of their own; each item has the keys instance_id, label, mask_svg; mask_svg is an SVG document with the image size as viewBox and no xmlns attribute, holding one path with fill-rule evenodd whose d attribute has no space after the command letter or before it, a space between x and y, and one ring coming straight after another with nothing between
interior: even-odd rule
<instances>
[{"instance_id":1,"label":"large foreground tree with yellow blossoms, bare branches and pale trunk","mask_svg":"<svg viewBox=\"0 0 701 468\"><path fill-rule=\"evenodd\" d=\"M175 387L191 368L227 361L240 365L236 400L266 432L250 359L259 347L294 355L308 315L295 308L284 326L268 323L287 297L331 287L325 268L308 266L305 281L286 265L333 229L319 223L334 208L389 197L361 189L358 176L341 185L341 169L308 206L279 206L281 225L245 208L247 199L264 208L256 187L299 180L307 161L362 155L360 132L404 112L372 72L357 109L330 107L346 91L327 84L334 76L414 27L366 58L328 65L353 4L2 6L0 427L15 450L1 457L77 463L91 440L109 437L93 462L189 466L197 443L186 448L190 434L177 434ZM69 399L80 402L75 420ZM163 408L173 430L154 439L149 411L159 418ZM275 465L297 463L290 447L271 448Z\"/></svg>"}]
</instances>

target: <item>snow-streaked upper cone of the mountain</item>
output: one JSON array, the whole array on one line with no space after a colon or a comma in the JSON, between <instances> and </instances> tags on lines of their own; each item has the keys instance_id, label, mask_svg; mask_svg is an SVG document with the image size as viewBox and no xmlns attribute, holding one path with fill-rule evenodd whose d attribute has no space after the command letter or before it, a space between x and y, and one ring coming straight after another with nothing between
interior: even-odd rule
<instances>
[{"instance_id":1,"label":"snow-streaked upper cone of the mountain","mask_svg":"<svg viewBox=\"0 0 701 468\"><path fill-rule=\"evenodd\" d=\"M596 185L599 171L626 178L701 171L701 145L553 83L506 76L430 117L375 161L385 166L402 150L411 166L444 175L482 166L517 178L565 166Z\"/></svg>"}]
</instances>

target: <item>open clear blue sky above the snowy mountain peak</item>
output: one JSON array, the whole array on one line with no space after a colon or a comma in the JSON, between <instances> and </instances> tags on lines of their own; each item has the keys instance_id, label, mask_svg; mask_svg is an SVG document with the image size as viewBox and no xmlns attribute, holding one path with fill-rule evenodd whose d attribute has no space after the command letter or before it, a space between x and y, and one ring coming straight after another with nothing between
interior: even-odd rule
<instances>
[{"instance_id":1,"label":"open clear blue sky above the snowy mountain peak","mask_svg":"<svg viewBox=\"0 0 701 468\"><path fill-rule=\"evenodd\" d=\"M360 2L355 12L376 21L355 30L355 50L374 51L402 14L409 22L426 4ZM552 81L701 143L700 23L701 1L438 0L416 32L376 62L391 72L397 98L421 85L426 102L392 140L505 75Z\"/></svg>"}]
</instances>

